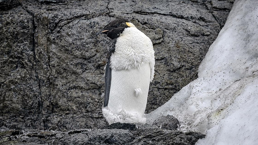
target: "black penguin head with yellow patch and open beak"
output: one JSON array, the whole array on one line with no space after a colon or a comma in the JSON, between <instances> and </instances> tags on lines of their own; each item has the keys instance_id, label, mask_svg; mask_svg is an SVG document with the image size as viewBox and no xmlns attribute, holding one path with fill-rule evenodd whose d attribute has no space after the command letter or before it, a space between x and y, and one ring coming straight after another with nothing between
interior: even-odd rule
<instances>
[{"instance_id":1,"label":"black penguin head with yellow patch and open beak","mask_svg":"<svg viewBox=\"0 0 258 145\"><path fill-rule=\"evenodd\" d=\"M108 23L103 30L99 31L96 35L100 33L106 34L109 38L114 39L120 36L120 34L123 33L125 28L128 27L135 27L133 23L130 21L124 19L124 18L118 18L110 23Z\"/></svg>"}]
</instances>

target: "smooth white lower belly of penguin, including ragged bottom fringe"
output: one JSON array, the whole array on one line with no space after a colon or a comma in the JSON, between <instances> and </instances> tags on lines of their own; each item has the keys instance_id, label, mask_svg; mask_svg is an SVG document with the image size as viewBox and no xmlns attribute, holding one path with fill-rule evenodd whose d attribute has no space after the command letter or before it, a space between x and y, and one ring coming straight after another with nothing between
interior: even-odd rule
<instances>
[{"instance_id":1,"label":"smooth white lower belly of penguin, including ragged bottom fringe","mask_svg":"<svg viewBox=\"0 0 258 145\"><path fill-rule=\"evenodd\" d=\"M102 109L109 124L145 123L151 66L143 63L139 68L113 70L108 106Z\"/></svg>"}]
</instances>

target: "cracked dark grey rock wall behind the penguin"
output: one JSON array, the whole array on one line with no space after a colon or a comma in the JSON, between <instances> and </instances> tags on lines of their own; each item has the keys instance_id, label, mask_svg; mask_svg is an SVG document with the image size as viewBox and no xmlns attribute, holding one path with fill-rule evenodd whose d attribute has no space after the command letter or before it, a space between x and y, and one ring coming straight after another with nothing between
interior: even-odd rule
<instances>
[{"instance_id":1,"label":"cracked dark grey rock wall behind the penguin","mask_svg":"<svg viewBox=\"0 0 258 145\"><path fill-rule=\"evenodd\" d=\"M124 17L153 41L146 113L197 78L233 1L0 1L0 126L67 131L105 126L105 49L95 34Z\"/></svg>"}]
</instances>

